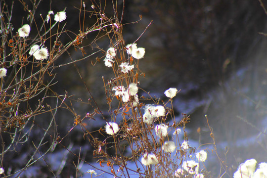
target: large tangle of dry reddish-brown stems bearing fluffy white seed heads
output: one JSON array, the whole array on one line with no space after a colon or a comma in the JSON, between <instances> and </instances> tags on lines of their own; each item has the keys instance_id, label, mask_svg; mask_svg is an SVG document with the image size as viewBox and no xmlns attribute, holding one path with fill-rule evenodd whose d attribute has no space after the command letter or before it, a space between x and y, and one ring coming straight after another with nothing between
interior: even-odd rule
<instances>
[{"instance_id":1,"label":"large tangle of dry reddish-brown stems bearing fluffy white seed heads","mask_svg":"<svg viewBox=\"0 0 267 178\"><path fill-rule=\"evenodd\" d=\"M45 159L45 155L53 152L57 145L73 156L74 172L70 175L76 177L85 176L80 169L81 165L87 164L91 167L87 172L90 177L211 178L213 174L204 164L209 158L207 152L218 157L221 167L218 177L228 174L227 151L225 159L222 159L207 116L212 142L201 145L202 150L191 147L186 132L190 117L182 114L178 119L173 111L173 98L179 93L178 89L166 89L164 98L153 97L149 91L142 89L139 78L144 78L145 73L139 68L139 63L145 59L145 48L137 44L152 21L135 41L126 44L123 27L127 24L122 24L125 1L121 5L117 1L112 2L114 13L109 17L105 13L106 4L101 1L91 0L89 6L81 1L81 6L77 8L80 26L76 34L66 29L69 16L66 9L60 12L47 9L45 16L39 16L37 9L41 0L29 3L13 1L11 5L1 0L0 174L19 177L41 161L47 166L50 176L60 177L66 160L62 160L59 169L55 170ZM20 3L28 13L27 20L17 29L12 25L14 3ZM89 17L95 22L86 28L85 19ZM141 20L142 16L139 17ZM88 38L93 39L89 45ZM103 39L109 43L106 48L98 44ZM93 52L88 55L85 47L91 47ZM83 57L73 58L71 49L80 52ZM65 56L70 61L62 60ZM102 100L106 101L105 111L99 106L101 101L94 98L79 66L88 59L92 67L103 65L112 72L112 76L98 79L104 86L105 98ZM67 91L63 94L55 91L58 82L56 71L66 66L75 67L88 92L88 101L68 95ZM91 109L82 115L73 103L89 105ZM73 127L65 135L57 131L58 110L64 110L74 118ZM100 118L106 125L91 131L86 123L99 122L95 118ZM67 136L75 129L83 131L84 135L80 137L93 147L92 155L99 166L87 161L80 154L81 150L72 151L73 142L67 144ZM41 130L42 134L37 130ZM38 134L34 140L29 139L32 134ZM8 158L5 155L11 154L12 157L21 144L33 148L24 166L19 169L6 167L11 165L6 162ZM203 149L205 145L212 147Z\"/></svg>"}]
</instances>

